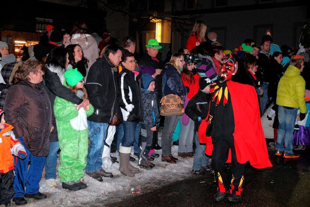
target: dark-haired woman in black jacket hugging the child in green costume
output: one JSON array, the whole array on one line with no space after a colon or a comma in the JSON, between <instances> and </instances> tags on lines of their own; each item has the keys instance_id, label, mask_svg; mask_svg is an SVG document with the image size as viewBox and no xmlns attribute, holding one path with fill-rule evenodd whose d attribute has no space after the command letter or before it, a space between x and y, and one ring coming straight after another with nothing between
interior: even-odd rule
<instances>
[{"instance_id":1,"label":"dark-haired woman in black jacket hugging the child in green costume","mask_svg":"<svg viewBox=\"0 0 310 207\"><path fill-rule=\"evenodd\" d=\"M63 85L65 79L64 72L69 65L68 57L69 54L63 47L55 47L47 56L47 70L45 72L44 80L47 88L49 89L48 92L51 99L52 109L54 108L54 101L56 96L81 107L86 107L89 105L89 101L86 98L81 99ZM55 178L59 142L56 126L54 132L51 133L50 142L50 151L45 161L45 180L48 186L57 188Z\"/></svg>"}]
</instances>

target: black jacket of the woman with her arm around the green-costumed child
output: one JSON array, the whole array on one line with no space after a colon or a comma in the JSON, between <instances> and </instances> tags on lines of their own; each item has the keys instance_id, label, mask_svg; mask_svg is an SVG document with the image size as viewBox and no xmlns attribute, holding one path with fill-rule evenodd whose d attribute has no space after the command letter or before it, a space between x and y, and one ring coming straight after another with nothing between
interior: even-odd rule
<instances>
[{"instance_id":1,"label":"black jacket of the woman with her arm around the green-costumed child","mask_svg":"<svg viewBox=\"0 0 310 207\"><path fill-rule=\"evenodd\" d=\"M63 98L67 101L70 101L74 104L81 104L82 99L73 94L67 87L65 87L58 76L57 73L52 72L50 69L47 69L44 74L43 84L47 87L47 93L51 100L52 113L54 115L54 102L56 96ZM58 132L57 126L55 124L54 131L50 135L50 142L58 142Z\"/></svg>"}]
</instances>

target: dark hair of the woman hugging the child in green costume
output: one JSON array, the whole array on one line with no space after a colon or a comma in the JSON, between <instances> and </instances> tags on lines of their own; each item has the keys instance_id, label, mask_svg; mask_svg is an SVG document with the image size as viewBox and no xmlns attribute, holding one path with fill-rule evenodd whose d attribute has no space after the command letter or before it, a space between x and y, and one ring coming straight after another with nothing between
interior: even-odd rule
<instances>
[{"instance_id":1,"label":"dark hair of the woman hugging the child in green costume","mask_svg":"<svg viewBox=\"0 0 310 207\"><path fill-rule=\"evenodd\" d=\"M63 47L55 47L49 53L46 59L47 67L60 67L63 71L66 70L67 50Z\"/></svg>"}]
</instances>

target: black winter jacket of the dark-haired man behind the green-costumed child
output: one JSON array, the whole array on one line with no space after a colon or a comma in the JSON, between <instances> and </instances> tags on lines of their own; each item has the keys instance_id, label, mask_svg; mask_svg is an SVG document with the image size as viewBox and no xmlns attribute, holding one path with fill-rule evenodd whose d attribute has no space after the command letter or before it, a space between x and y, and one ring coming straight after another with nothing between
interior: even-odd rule
<instances>
[{"instance_id":1,"label":"black winter jacket of the dark-haired man behind the green-costumed child","mask_svg":"<svg viewBox=\"0 0 310 207\"><path fill-rule=\"evenodd\" d=\"M98 59L88 71L86 89L94 113L87 120L98 123L111 123L118 107L117 67L108 56Z\"/></svg>"}]
</instances>

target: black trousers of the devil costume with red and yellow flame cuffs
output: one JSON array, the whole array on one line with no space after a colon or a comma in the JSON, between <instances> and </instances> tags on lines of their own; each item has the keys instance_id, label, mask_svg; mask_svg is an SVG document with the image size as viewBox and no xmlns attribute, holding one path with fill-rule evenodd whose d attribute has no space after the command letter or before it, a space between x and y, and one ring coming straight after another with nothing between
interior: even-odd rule
<instances>
[{"instance_id":1,"label":"black trousers of the devil costume with red and yellow flame cuffs","mask_svg":"<svg viewBox=\"0 0 310 207\"><path fill-rule=\"evenodd\" d=\"M213 139L212 167L215 171L214 179L217 191L226 192L230 189L231 194L241 195L244 187L246 164L237 162L234 138L220 137ZM232 155L232 179L229 181L225 162L228 159L229 149Z\"/></svg>"}]
</instances>

